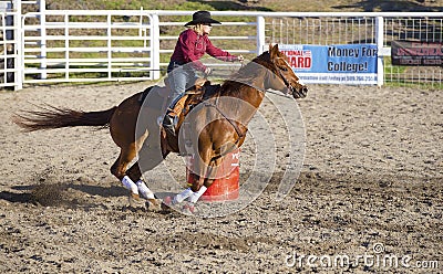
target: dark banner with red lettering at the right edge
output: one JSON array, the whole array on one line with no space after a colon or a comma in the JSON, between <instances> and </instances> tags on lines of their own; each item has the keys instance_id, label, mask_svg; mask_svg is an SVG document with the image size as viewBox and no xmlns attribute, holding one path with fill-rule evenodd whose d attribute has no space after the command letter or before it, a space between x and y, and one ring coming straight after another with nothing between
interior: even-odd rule
<instances>
[{"instance_id":1,"label":"dark banner with red lettering at the right edge","mask_svg":"<svg viewBox=\"0 0 443 274\"><path fill-rule=\"evenodd\" d=\"M392 41L391 61L393 65L443 65L443 43Z\"/></svg>"}]
</instances>

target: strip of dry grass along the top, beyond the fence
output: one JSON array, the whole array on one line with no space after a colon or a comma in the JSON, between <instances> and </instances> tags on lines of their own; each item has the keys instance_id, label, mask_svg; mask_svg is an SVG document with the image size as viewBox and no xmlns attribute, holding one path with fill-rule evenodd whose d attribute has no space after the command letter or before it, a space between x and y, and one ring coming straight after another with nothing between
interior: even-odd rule
<instances>
[{"instance_id":1,"label":"strip of dry grass along the top, beyond the fence","mask_svg":"<svg viewBox=\"0 0 443 274\"><path fill-rule=\"evenodd\" d=\"M47 0L59 10L442 11L443 0Z\"/></svg>"}]
</instances>

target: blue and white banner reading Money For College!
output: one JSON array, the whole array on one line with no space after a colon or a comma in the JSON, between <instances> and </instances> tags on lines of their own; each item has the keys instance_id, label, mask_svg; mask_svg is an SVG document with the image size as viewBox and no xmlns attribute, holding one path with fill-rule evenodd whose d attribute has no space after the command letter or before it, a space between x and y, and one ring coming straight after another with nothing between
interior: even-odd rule
<instances>
[{"instance_id":1,"label":"blue and white banner reading Money For College!","mask_svg":"<svg viewBox=\"0 0 443 274\"><path fill-rule=\"evenodd\" d=\"M377 45L280 44L297 76L311 84L377 84Z\"/></svg>"}]
</instances>

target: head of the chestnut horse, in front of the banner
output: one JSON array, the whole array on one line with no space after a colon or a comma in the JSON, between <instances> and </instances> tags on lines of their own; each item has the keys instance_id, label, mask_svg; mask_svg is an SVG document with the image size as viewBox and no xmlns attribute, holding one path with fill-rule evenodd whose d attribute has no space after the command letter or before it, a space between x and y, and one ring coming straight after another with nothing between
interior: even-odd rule
<instances>
[{"instance_id":1,"label":"head of the chestnut horse, in front of the banner","mask_svg":"<svg viewBox=\"0 0 443 274\"><path fill-rule=\"evenodd\" d=\"M308 87L300 83L299 77L293 73L288 63L288 57L278 50L278 44L269 45L268 68L274 75L268 75L266 88L291 93L293 98L303 98L308 94Z\"/></svg>"}]
</instances>

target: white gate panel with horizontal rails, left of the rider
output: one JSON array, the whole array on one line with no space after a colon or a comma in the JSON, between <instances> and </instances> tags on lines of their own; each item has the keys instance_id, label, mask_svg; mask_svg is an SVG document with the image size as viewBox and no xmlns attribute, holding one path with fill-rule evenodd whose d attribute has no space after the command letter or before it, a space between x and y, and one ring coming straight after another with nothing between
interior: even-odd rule
<instances>
[{"instance_id":1,"label":"white gate panel with horizontal rails, left of the rider","mask_svg":"<svg viewBox=\"0 0 443 274\"><path fill-rule=\"evenodd\" d=\"M44 23L41 19L44 18ZM45 11L22 17L25 83L153 80L153 18L141 11ZM44 25L44 28L42 27Z\"/></svg>"}]
</instances>

